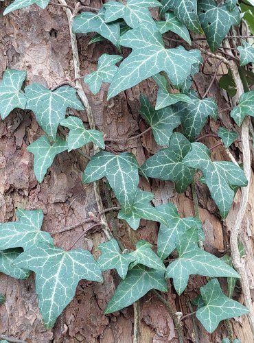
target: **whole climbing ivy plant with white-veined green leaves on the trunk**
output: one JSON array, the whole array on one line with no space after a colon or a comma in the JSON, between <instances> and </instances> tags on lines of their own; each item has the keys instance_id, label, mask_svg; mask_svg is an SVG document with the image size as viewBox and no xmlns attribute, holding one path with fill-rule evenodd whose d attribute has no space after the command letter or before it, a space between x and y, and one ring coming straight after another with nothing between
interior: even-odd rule
<instances>
[{"instance_id":1,"label":"whole climbing ivy plant with white-veined green leaves on the trunk","mask_svg":"<svg viewBox=\"0 0 254 343\"><path fill-rule=\"evenodd\" d=\"M14 0L3 14L32 4L46 8L48 3L48 0ZM60 4L70 11L64 0ZM152 15L156 12L159 20ZM93 144L95 154L85 155L89 161L82 182L106 180L106 187L119 205L115 209L119 211L118 219L133 230L139 228L141 219L158 222L157 250L143 240L136 241L135 248L127 248L119 237L114 237L114 232L109 232L107 240L98 247L101 255L95 261L87 250L65 251L54 246L51 235L41 230L43 211L18 209L16 222L0 224L0 271L16 279L26 279L31 272L35 273L38 306L47 329L54 326L75 296L78 281L103 282L102 272L106 270L115 269L122 281L108 302L105 314L132 305L152 289L167 292L168 279L180 295L187 289L190 275L207 276L208 282L200 288L194 305L197 306L196 318L211 333L221 320L249 311L231 299L236 280L240 278L233 268L233 259L229 255L220 259L203 249L205 234L198 211L194 217L182 218L171 202L154 206L154 194L143 190L140 181L141 178L172 180L178 193L191 189L192 185L194 200L196 182L201 182L207 185L222 220L231 209L237 189L248 185L241 165L235 160L214 161L211 149L199 142L208 120L219 124L218 105L216 99L207 97L209 89L202 97L194 82L194 75L205 64L203 54L231 68L223 57L223 50L220 55L213 53L220 49L231 26L240 25L240 7L236 1L229 0L220 4L213 0L110 1L93 11L86 10L86 6L75 9L69 18L73 34L95 33L90 44L106 39L115 45L117 54L102 54L97 69L83 76L91 93L97 94L106 82L109 100L135 88L143 80L150 78L154 82L157 101L154 104L141 93L139 114L152 131L158 151L143 165L137 163L132 152L108 152L105 147L108 137L103 132L86 127L78 115L67 117L67 108L86 110L91 116L80 86L69 82L48 89L32 83L23 89L26 71L4 71L0 83L1 118L5 119L14 108L32 110L45 132L27 146L34 154L34 175L38 182L43 182L57 154ZM171 43L168 46L168 32L178 35L180 43L176 47ZM194 33L205 35L201 38L207 40L211 52L195 43L198 39L193 38ZM75 49L75 45L72 47ZM128 54L121 54L125 47L129 48ZM242 40L234 51L238 51L239 56L228 53L224 56L236 60L240 71L254 63L254 48L248 41ZM78 58L76 54L73 56ZM239 104L231 110L236 126L240 126L246 116L254 115L254 92L248 89L238 97ZM238 138L237 132L222 127L218 134L210 135L218 139L218 145L224 145L227 152ZM230 152L229 156L232 156ZM195 208L197 206L195 203ZM102 213L107 211L113 209L104 209ZM98 226L105 225L100 223L100 218L98 220ZM222 291L220 279L214 279L222 277L227 278L230 285L229 297ZM3 300L1 296L0 302Z\"/></svg>"}]
</instances>

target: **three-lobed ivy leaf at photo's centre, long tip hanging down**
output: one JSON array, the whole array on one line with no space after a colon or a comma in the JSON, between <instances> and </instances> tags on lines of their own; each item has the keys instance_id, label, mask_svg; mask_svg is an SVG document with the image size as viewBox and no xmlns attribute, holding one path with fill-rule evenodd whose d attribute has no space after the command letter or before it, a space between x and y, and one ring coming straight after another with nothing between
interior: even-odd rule
<instances>
[{"instance_id":1,"label":"three-lobed ivy leaf at photo's centre, long tip hanging down","mask_svg":"<svg viewBox=\"0 0 254 343\"><path fill-rule=\"evenodd\" d=\"M139 165L134 154L111 152L95 154L84 170L83 182L100 180L104 176L125 211L131 211L139 183Z\"/></svg>"}]
</instances>

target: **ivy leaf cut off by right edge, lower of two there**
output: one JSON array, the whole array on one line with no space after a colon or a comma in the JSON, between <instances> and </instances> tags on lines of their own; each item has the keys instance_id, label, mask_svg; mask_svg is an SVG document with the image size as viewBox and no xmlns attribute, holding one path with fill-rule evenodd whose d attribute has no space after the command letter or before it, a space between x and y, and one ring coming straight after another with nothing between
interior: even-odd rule
<instances>
[{"instance_id":1,"label":"ivy leaf cut off by right edge, lower of two there","mask_svg":"<svg viewBox=\"0 0 254 343\"><path fill-rule=\"evenodd\" d=\"M254 91L243 93L240 96L239 105L231 110L231 117L238 126L242 125L247 115L254 117Z\"/></svg>"}]
</instances>

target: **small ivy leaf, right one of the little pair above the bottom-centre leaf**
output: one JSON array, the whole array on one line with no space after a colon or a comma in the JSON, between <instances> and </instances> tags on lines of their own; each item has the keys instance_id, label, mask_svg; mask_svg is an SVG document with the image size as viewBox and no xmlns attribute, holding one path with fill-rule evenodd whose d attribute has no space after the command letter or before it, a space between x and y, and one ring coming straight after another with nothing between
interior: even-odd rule
<instances>
[{"instance_id":1,"label":"small ivy leaf, right one of the little pair above the bottom-centre leaf","mask_svg":"<svg viewBox=\"0 0 254 343\"><path fill-rule=\"evenodd\" d=\"M137 241L136 250L130 252L130 256L135 257L135 262L131 266L142 264L148 268L165 271L165 265L151 248L152 244L148 241Z\"/></svg>"}]
</instances>

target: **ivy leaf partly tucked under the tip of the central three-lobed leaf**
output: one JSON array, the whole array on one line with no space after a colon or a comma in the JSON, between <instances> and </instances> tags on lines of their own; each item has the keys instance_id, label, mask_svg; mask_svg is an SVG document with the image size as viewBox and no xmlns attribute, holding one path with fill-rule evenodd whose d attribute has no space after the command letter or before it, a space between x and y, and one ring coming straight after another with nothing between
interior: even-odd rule
<instances>
[{"instance_id":1,"label":"ivy leaf partly tucked under the tip of the central three-lobed leaf","mask_svg":"<svg viewBox=\"0 0 254 343\"><path fill-rule=\"evenodd\" d=\"M131 211L122 209L118 213L118 218L126 220L133 230L137 230L141 218L166 224L167 221L163 214L159 213L157 208L150 204L150 201L153 198L153 193L141 191L141 189L138 188Z\"/></svg>"}]
</instances>

